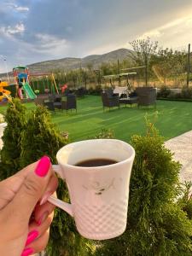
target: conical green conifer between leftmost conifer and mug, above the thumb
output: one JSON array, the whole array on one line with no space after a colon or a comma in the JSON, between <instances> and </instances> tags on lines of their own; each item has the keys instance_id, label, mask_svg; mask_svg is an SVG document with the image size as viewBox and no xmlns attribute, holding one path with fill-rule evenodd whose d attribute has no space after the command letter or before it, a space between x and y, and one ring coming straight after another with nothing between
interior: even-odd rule
<instances>
[{"instance_id":1,"label":"conical green conifer between leftmost conifer and mug, above the thumb","mask_svg":"<svg viewBox=\"0 0 192 256\"><path fill-rule=\"evenodd\" d=\"M44 154L49 155L51 161L55 162L55 154L66 144L66 140L51 123L48 110L38 106L32 111L26 127L21 139L20 166L30 164Z\"/></svg>"}]
</instances>

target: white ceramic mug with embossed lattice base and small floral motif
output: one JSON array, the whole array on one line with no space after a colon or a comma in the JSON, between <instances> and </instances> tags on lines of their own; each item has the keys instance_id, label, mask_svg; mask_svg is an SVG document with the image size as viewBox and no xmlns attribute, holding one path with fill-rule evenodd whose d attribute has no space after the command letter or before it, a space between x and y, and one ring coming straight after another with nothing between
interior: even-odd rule
<instances>
[{"instance_id":1,"label":"white ceramic mug with embossed lattice base and small floral motif","mask_svg":"<svg viewBox=\"0 0 192 256\"><path fill-rule=\"evenodd\" d=\"M73 216L79 233L105 240L121 235L126 228L129 183L135 150L114 139L71 143L56 154L55 172L66 180L71 204L49 197L49 202ZM92 159L115 160L109 166L82 167Z\"/></svg>"}]
</instances>

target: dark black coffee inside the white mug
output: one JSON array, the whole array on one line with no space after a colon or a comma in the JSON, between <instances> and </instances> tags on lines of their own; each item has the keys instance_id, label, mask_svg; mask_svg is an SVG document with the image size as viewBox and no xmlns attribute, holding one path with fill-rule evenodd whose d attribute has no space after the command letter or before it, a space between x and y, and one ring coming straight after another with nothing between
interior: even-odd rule
<instances>
[{"instance_id":1,"label":"dark black coffee inside the white mug","mask_svg":"<svg viewBox=\"0 0 192 256\"><path fill-rule=\"evenodd\" d=\"M74 166L96 167L96 166L110 166L116 163L117 161L115 160L98 158L98 159L84 160L77 163Z\"/></svg>"}]
</instances>

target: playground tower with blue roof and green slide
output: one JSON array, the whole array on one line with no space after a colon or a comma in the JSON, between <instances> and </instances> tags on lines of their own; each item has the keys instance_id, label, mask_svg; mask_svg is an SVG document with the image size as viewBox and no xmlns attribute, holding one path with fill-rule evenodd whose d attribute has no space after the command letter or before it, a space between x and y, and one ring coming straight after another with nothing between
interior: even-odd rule
<instances>
[{"instance_id":1,"label":"playground tower with blue roof and green slide","mask_svg":"<svg viewBox=\"0 0 192 256\"><path fill-rule=\"evenodd\" d=\"M17 88L17 96L20 99L30 98L35 99L37 96L29 85L29 70L28 67L14 67L13 68L15 84Z\"/></svg>"}]
</instances>

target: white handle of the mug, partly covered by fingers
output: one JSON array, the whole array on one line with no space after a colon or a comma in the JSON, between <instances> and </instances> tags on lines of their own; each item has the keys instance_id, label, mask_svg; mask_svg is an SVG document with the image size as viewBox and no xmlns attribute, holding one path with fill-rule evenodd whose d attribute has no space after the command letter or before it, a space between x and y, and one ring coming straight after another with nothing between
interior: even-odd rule
<instances>
[{"instance_id":1,"label":"white handle of the mug, partly covered by fingers","mask_svg":"<svg viewBox=\"0 0 192 256\"><path fill-rule=\"evenodd\" d=\"M61 174L61 167L59 165L53 165L52 167L54 172L56 172L60 177L63 176L63 172ZM73 217L73 209L71 204L68 204L65 201L61 201L60 199L55 198L53 195L49 196L48 201L56 207L61 208Z\"/></svg>"}]
</instances>

